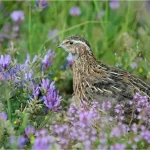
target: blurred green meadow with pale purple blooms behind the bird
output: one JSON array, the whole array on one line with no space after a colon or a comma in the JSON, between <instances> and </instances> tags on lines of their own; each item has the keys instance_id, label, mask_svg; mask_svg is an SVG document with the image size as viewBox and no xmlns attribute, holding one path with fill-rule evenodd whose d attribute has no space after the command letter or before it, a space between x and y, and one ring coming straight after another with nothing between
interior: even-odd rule
<instances>
[{"instance_id":1,"label":"blurred green meadow with pale purple blooms behind the bird","mask_svg":"<svg viewBox=\"0 0 150 150\"><path fill-rule=\"evenodd\" d=\"M0 1L0 51L22 61L26 53L33 57L51 49L59 80L67 53L57 45L80 35L99 61L149 81L149 15L149 1Z\"/></svg>"}]
</instances>

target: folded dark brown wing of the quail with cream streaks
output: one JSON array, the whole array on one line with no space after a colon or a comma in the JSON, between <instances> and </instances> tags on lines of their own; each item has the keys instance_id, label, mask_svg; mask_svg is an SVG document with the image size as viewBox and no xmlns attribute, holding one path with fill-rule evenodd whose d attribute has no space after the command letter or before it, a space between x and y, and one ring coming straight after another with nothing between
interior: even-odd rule
<instances>
[{"instance_id":1,"label":"folded dark brown wing of the quail with cream streaks","mask_svg":"<svg viewBox=\"0 0 150 150\"><path fill-rule=\"evenodd\" d=\"M150 98L150 85L130 73L102 63L91 67L93 74L85 78L87 82L85 93L91 99L103 101L114 99L114 101L132 100L136 92Z\"/></svg>"}]
</instances>

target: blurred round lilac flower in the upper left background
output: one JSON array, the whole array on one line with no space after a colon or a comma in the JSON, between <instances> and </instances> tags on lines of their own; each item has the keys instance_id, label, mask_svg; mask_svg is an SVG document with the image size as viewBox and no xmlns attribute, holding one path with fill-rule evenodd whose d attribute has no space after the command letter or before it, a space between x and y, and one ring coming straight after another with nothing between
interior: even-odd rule
<instances>
[{"instance_id":1,"label":"blurred round lilac flower in the upper left background","mask_svg":"<svg viewBox=\"0 0 150 150\"><path fill-rule=\"evenodd\" d=\"M21 10L16 10L11 13L10 17L14 22L22 22L24 20L24 12Z\"/></svg>"}]
</instances>

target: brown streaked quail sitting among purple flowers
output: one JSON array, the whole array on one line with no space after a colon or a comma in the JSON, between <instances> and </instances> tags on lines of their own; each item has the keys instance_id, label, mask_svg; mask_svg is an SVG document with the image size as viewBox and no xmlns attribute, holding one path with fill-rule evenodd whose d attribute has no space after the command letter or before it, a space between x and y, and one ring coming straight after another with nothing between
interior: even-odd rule
<instances>
[{"instance_id":1,"label":"brown streaked quail sitting among purple flowers","mask_svg":"<svg viewBox=\"0 0 150 150\"><path fill-rule=\"evenodd\" d=\"M59 47L74 58L73 89L77 104L84 100L128 105L136 92L150 98L150 85L127 71L98 62L84 38L70 36Z\"/></svg>"}]
</instances>

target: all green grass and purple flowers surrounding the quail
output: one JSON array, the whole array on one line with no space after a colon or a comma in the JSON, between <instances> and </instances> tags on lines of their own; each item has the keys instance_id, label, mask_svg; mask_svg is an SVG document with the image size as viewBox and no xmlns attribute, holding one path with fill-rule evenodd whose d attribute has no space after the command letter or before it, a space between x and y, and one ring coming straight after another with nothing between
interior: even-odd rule
<instances>
[{"instance_id":1,"label":"all green grass and purple flowers surrounding the quail","mask_svg":"<svg viewBox=\"0 0 150 150\"><path fill-rule=\"evenodd\" d=\"M136 93L129 124L109 100L70 105L72 58L56 48L83 36L98 60L150 83L149 1L1 1L0 11L0 148L150 148L147 97Z\"/></svg>"}]
</instances>

